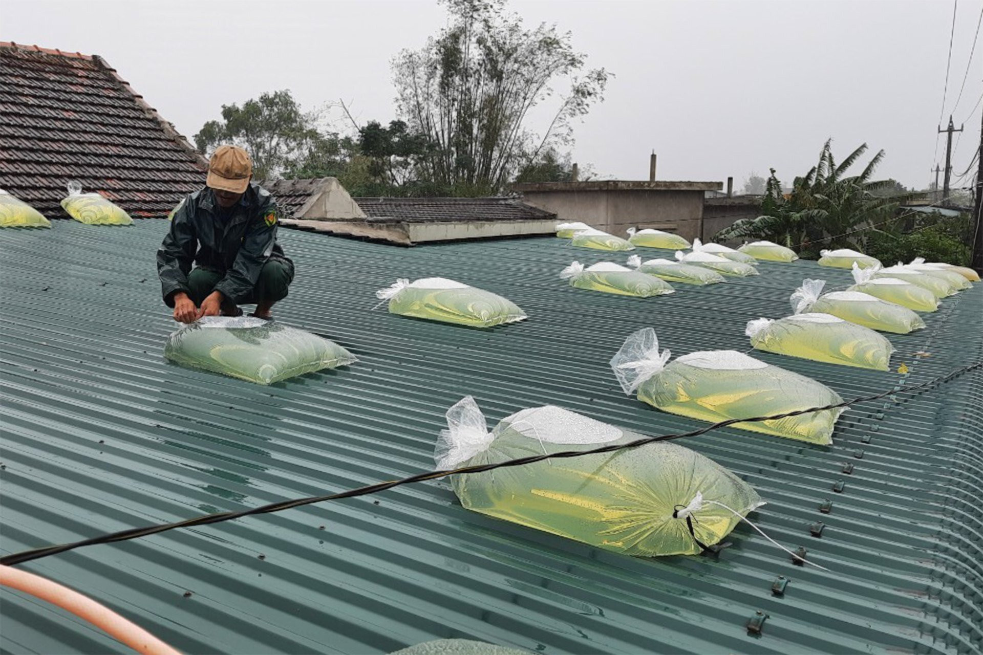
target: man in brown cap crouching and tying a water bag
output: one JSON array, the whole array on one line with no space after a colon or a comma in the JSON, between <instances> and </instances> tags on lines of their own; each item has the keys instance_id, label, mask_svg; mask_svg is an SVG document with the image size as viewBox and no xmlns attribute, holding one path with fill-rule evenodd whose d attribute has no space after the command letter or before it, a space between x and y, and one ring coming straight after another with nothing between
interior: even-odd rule
<instances>
[{"instance_id":1,"label":"man in brown cap crouching and tying a water bag","mask_svg":"<svg viewBox=\"0 0 983 655\"><path fill-rule=\"evenodd\" d=\"M276 201L253 179L246 150L222 145L211 155L205 187L174 211L170 232L157 250L157 274L174 320L239 316L272 318L287 297L294 263L276 243ZM195 268L192 268L192 264Z\"/></svg>"}]
</instances>

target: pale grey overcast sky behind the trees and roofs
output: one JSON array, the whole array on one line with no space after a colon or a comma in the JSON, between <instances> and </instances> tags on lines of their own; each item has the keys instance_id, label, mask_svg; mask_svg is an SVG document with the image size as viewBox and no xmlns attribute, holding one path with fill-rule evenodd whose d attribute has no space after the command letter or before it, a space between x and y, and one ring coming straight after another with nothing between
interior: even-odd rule
<instances>
[{"instance_id":1,"label":"pale grey overcast sky behind the trees and roofs","mask_svg":"<svg viewBox=\"0 0 983 655\"><path fill-rule=\"evenodd\" d=\"M983 0L957 0L944 122L980 134ZM361 122L395 118L389 61L445 24L434 0L4 0L0 40L104 57L185 136L223 103L289 88L305 109L344 98ZM528 26L569 30L615 74L576 126L572 154L602 177L723 181L777 169L786 184L834 138L841 158L884 148L881 177L924 188L945 165L951 0L726 2L512 0ZM968 68L967 68L968 66ZM956 97L968 70L965 88ZM976 104L975 111L970 110ZM945 127L945 126L944 126ZM969 177L971 180L971 176ZM968 185L969 182L963 184Z\"/></svg>"}]
</instances>

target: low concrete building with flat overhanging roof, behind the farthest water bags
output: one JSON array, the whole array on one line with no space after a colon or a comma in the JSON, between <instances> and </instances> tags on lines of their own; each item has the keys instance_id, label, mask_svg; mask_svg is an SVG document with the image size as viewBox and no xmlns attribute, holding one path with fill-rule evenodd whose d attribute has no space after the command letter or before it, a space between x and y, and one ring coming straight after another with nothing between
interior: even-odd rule
<instances>
[{"instance_id":1,"label":"low concrete building with flat overhanging roof, behind the farthest water bags","mask_svg":"<svg viewBox=\"0 0 983 655\"><path fill-rule=\"evenodd\" d=\"M655 228L693 240L704 236L706 191L720 182L549 182L515 185L527 204L556 214L559 221L582 221L613 235L630 227Z\"/></svg>"}]
</instances>

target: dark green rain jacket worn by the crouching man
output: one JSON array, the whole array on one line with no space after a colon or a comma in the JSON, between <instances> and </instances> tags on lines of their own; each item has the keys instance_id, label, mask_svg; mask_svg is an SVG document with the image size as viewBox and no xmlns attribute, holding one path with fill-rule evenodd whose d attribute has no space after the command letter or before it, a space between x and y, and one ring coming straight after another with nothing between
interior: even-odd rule
<instances>
[{"instance_id":1,"label":"dark green rain jacket worn by the crouching man","mask_svg":"<svg viewBox=\"0 0 983 655\"><path fill-rule=\"evenodd\" d=\"M176 292L188 293L193 263L224 273L215 290L237 303L253 295L267 259L279 258L293 266L276 243L279 211L269 191L252 182L230 218L220 220L218 210L215 195L207 187L189 195L174 210L171 230L157 250L157 274L168 306L174 306Z\"/></svg>"}]
</instances>

